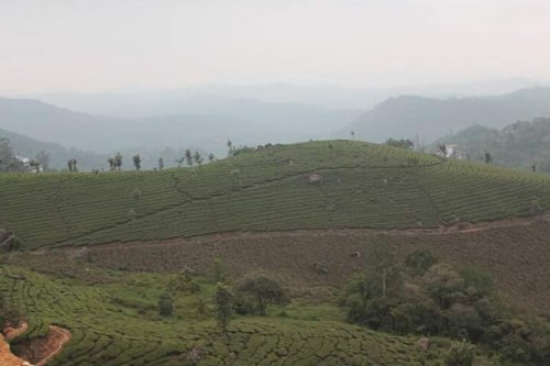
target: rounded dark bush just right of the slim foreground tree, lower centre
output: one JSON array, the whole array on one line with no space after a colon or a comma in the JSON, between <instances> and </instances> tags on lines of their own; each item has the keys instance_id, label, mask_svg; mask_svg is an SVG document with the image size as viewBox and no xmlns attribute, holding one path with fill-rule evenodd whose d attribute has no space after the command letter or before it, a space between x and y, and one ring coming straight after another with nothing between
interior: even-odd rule
<instances>
[{"instance_id":1,"label":"rounded dark bush just right of the slim foreground tree, lower centre","mask_svg":"<svg viewBox=\"0 0 550 366\"><path fill-rule=\"evenodd\" d=\"M285 288L266 276L244 279L237 286L235 296L235 310L241 314L265 315L267 306L289 302Z\"/></svg>"}]
</instances>

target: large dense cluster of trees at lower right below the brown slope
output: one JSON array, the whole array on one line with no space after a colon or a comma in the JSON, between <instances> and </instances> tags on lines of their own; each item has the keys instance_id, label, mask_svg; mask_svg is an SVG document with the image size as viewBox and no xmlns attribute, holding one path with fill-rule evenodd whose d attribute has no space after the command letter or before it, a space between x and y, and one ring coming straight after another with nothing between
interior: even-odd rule
<instances>
[{"instance_id":1,"label":"large dense cluster of trees at lower right below the brown slope","mask_svg":"<svg viewBox=\"0 0 550 366\"><path fill-rule=\"evenodd\" d=\"M341 298L349 321L398 334L468 340L520 363L550 358L550 325L514 313L475 267L460 270L427 251L399 263L389 245L376 244L365 273Z\"/></svg>"}]
</instances>

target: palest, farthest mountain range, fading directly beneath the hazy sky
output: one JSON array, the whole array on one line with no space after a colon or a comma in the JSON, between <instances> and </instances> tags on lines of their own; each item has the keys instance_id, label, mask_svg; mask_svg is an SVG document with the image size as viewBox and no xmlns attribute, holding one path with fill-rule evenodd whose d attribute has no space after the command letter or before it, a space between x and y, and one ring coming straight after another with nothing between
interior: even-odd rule
<instances>
[{"instance_id":1,"label":"palest, farthest mountain range, fading directly beneath the hazy sky","mask_svg":"<svg viewBox=\"0 0 550 366\"><path fill-rule=\"evenodd\" d=\"M249 100L268 104L322 106L329 110L369 110L392 96L416 95L430 98L494 96L535 86L550 86L550 80L508 78L461 84L413 85L400 87L353 88L320 84L206 85L161 91L135 92L58 92L33 95L38 99L74 111L124 118L162 114L226 114L227 102ZM243 112L244 110L240 110ZM245 118L249 119L250 111ZM231 115L231 113L229 113ZM242 115L242 114L241 114Z\"/></svg>"}]
</instances>

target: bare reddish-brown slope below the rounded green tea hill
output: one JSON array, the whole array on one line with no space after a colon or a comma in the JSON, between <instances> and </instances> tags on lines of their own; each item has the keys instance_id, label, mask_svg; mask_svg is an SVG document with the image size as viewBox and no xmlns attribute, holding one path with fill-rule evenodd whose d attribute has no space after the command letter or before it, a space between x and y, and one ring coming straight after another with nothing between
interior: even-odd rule
<instances>
[{"instance_id":1,"label":"bare reddish-brown slope below the rounded green tea hill","mask_svg":"<svg viewBox=\"0 0 550 366\"><path fill-rule=\"evenodd\" d=\"M307 296L339 287L366 265L372 244L386 241L399 256L425 248L442 262L473 264L488 270L512 303L550 314L550 221L548 218L501 221L438 230L327 230L285 233L234 233L163 242L112 243L88 248L41 252L35 260L80 258L128 270L209 273L223 258L240 277L268 273ZM358 253L360 255L358 255ZM50 257L50 259L47 259ZM81 262L80 262L81 263ZM50 265L48 265L50 266Z\"/></svg>"}]
</instances>

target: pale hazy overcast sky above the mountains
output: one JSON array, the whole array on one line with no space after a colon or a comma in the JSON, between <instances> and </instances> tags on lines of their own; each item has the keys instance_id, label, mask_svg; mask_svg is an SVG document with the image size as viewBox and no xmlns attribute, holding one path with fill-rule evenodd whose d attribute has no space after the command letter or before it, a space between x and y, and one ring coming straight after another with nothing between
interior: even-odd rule
<instances>
[{"instance_id":1,"label":"pale hazy overcast sky above the mountains","mask_svg":"<svg viewBox=\"0 0 550 366\"><path fill-rule=\"evenodd\" d=\"M550 77L549 0L0 0L0 93Z\"/></svg>"}]
</instances>

